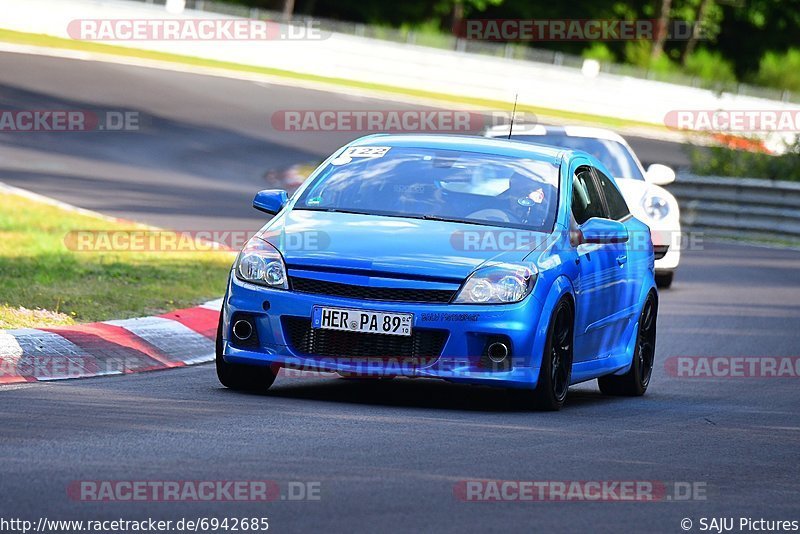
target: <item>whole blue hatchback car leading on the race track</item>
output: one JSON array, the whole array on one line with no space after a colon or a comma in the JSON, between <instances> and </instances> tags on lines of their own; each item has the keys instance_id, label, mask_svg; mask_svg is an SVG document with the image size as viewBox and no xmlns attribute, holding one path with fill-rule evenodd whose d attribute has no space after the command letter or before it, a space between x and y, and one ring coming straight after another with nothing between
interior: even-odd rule
<instances>
[{"instance_id":1,"label":"whole blue hatchback car leading on the race track","mask_svg":"<svg viewBox=\"0 0 800 534\"><path fill-rule=\"evenodd\" d=\"M571 384L642 395L658 293L648 227L592 156L447 135L337 150L233 265L217 373L266 389L281 368L509 388L559 409Z\"/></svg>"}]
</instances>

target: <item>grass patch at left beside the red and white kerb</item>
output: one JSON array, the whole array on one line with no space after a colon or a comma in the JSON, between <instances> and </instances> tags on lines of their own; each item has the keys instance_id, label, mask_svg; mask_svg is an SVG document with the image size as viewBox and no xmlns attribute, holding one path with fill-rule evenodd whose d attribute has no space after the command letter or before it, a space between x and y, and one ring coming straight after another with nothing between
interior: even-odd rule
<instances>
[{"instance_id":1,"label":"grass patch at left beside the red and white kerb","mask_svg":"<svg viewBox=\"0 0 800 534\"><path fill-rule=\"evenodd\" d=\"M91 252L78 230L142 230L0 193L0 328L163 313L220 297L233 253Z\"/></svg>"}]
</instances>

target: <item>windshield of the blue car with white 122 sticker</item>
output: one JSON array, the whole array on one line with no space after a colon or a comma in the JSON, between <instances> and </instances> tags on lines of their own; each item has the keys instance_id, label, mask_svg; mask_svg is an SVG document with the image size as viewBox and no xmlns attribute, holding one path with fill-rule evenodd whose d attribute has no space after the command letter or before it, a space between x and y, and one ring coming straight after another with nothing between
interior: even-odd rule
<instances>
[{"instance_id":1,"label":"windshield of the blue car with white 122 sticker","mask_svg":"<svg viewBox=\"0 0 800 534\"><path fill-rule=\"evenodd\" d=\"M294 209L445 220L550 232L558 166L493 154L350 147Z\"/></svg>"}]
</instances>

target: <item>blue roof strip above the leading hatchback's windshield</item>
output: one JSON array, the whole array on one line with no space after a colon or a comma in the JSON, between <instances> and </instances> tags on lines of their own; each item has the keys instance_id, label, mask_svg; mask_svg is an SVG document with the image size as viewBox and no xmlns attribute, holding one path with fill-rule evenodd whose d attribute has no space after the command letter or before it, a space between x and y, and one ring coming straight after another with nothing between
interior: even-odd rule
<instances>
[{"instance_id":1,"label":"blue roof strip above the leading hatchback's windshield","mask_svg":"<svg viewBox=\"0 0 800 534\"><path fill-rule=\"evenodd\" d=\"M356 139L348 146L389 146L406 148L432 148L459 150L498 156L535 159L559 164L565 154L572 151L564 148L536 145L522 141L492 139L473 135L441 134L375 134Z\"/></svg>"}]
</instances>

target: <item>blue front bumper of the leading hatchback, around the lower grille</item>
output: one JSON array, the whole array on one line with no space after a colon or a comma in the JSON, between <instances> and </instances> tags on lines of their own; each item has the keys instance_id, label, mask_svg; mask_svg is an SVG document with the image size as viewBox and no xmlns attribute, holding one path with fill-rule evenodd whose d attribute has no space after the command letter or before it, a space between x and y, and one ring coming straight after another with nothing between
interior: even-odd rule
<instances>
[{"instance_id":1,"label":"blue front bumper of the leading hatchback, around the lower grille","mask_svg":"<svg viewBox=\"0 0 800 534\"><path fill-rule=\"evenodd\" d=\"M231 276L227 295L222 332L223 357L229 363L322 373L440 378L502 387L536 386L544 342L536 336L542 305L534 295L516 304L484 306L378 302L268 289L235 276ZM298 346L287 321L310 322L314 306L413 313L412 332L435 332L443 345L436 354L422 358L408 353L354 357L330 350L309 354L301 350L307 347ZM243 344L231 336L232 317L250 318L257 341ZM511 350L503 365L486 357L488 344L497 340L507 342Z\"/></svg>"}]
</instances>

